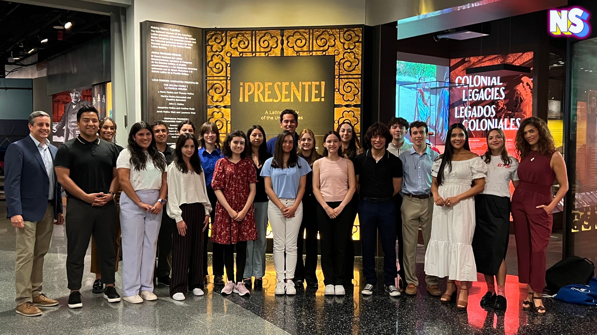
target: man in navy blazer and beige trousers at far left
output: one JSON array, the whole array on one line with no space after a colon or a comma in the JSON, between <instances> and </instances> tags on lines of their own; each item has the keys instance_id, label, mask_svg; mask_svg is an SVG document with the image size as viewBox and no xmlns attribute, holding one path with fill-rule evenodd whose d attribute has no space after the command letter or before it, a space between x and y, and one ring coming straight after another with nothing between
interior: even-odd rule
<instances>
[{"instance_id":1,"label":"man in navy blazer and beige trousers at far left","mask_svg":"<svg viewBox=\"0 0 597 335\"><path fill-rule=\"evenodd\" d=\"M41 293L44 256L54 220L57 225L64 221L53 163L58 149L48 141L51 125L47 113L34 111L29 115L29 136L8 145L5 155L7 218L17 235L16 312L26 317L42 314L38 306L58 305L57 300Z\"/></svg>"}]
</instances>

